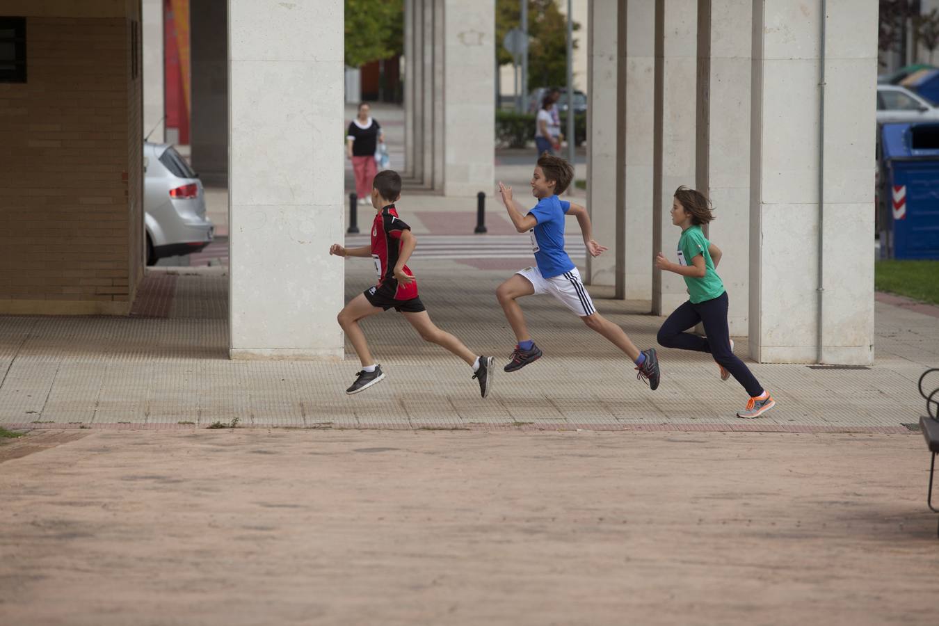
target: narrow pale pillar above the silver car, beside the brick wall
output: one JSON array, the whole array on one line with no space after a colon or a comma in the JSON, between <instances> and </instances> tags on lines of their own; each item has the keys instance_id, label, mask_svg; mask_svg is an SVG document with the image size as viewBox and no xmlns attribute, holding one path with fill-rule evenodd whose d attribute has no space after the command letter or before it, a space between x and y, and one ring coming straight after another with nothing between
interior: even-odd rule
<instances>
[{"instance_id":1,"label":"narrow pale pillar above the silver car, beside the brick wall","mask_svg":"<svg viewBox=\"0 0 939 626\"><path fill-rule=\"evenodd\" d=\"M143 0L142 37L144 43L144 136L162 144L165 136L166 107L163 103L163 0Z\"/></svg>"}]
</instances>

